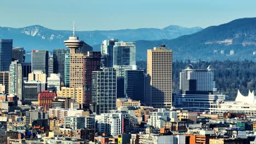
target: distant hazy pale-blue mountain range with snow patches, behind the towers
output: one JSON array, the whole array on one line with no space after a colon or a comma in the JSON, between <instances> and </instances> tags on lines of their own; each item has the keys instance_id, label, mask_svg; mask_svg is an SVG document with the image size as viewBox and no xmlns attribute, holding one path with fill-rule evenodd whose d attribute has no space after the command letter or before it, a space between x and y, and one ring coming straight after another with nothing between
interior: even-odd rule
<instances>
[{"instance_id":1,"label":"distant hazy pale-blue mountain range with snow patches, behind the towers","mask_svg":"<svg viewBox=\"0 0 256 144\"><path fill-rule=\"evenodd\" d=\"M201 31L201 27L185 28L168 26L159 28L121 29L116 31L78 31L75 35L89 45L98 45L104 39L119 39L123 41L173 39L182 35ZM64 49L63 40L67 40L72 31L58 31L40 25L24 28L0 27L0 39L13 39L14 46L25 47L29 52L32 49Z\"/></svg>"}]
</instances>

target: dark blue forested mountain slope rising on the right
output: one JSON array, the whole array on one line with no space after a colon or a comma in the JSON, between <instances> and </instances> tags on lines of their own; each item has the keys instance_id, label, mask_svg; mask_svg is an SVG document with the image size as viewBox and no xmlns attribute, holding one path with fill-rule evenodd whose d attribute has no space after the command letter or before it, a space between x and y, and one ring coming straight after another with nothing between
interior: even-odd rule
<instances>
[{"instance_id":1,"label":"dark blue forested mountain slope rising on the right","mask_svg":"<svg viewBox=\"0 0 256 144\"><path fill-rule=\"evenodd\" d=\"M147 49L165 44L173 50L173 59L177 61L256 61L256 17L210 26L176 39L135 42L137 57L143 60L147 58Z\"/></svg>"}]
</instances>

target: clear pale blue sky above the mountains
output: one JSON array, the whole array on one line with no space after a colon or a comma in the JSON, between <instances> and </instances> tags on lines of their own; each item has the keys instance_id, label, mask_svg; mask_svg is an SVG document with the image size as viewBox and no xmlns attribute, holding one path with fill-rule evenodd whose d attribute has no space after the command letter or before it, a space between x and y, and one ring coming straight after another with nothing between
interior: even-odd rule
<instances>
[{"instance_id":1,"label":"clear pale blue sky above the mountains","mask_svg":"<svg viewBox=\"0 0 256 144\"><path fill-rule=\"evenodd\" d=\"M256 17L256 1L236 0L8 0L0 3L0 26L42 25L77 31L168 25L208 27Z\"/></svg>"}]
</instances>

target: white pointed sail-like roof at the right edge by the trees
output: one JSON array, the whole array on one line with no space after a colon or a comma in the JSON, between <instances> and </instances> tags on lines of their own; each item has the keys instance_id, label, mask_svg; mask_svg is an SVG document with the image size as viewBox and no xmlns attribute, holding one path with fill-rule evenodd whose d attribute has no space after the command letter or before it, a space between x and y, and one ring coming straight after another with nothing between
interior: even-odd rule
<instances>
[{"instance_id":1,"label":"white pointed sail-like roof at the right edge by the trees","mask_svg":"<svg viewBox=\"0 0 256 144\"><path fill-rule=\"evenodd\" d=\"M241 103L247 103L247 104L254 104L256 103L255 96L254 96L254 91L249 90L248 96L244 96L240 93L239 89L237 91L237 96L236 96L236 102L241 102Z\"/></svg>"}]
</instances>

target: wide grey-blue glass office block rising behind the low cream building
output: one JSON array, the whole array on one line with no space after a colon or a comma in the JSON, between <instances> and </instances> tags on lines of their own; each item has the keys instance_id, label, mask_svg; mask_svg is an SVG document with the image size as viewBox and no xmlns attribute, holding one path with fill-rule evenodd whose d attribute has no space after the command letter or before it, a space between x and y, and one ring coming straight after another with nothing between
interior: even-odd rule
<instances>
[{"instance_id":1,"label":"wide grey-blue glass office block rising behind the low cream building","mask_svg":"<svg viewBox=\"0 0 256 144\"><path fill-rule=\"evenodd\" d=\"M46 76L48 75L49 67L49 52L45 50L32 50L31 67L33 70L42 70Z\"/></svg>"}]
</instances>

